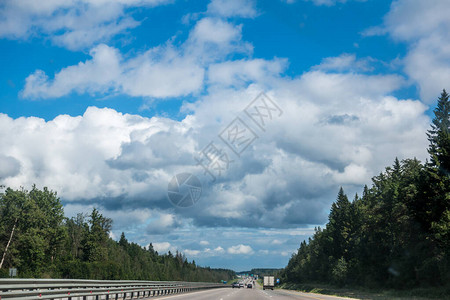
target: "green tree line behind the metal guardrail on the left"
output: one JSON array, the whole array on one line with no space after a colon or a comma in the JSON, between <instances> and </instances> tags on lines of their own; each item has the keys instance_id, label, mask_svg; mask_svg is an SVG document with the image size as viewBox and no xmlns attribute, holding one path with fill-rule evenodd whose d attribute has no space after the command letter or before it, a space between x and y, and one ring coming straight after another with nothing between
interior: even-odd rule
<instances>
[{"instance_id":1,"label":"green tree line behind the metal guardrail on the left","mask_svg":"<svg viewBox=\"0 0 450 300\"><path fill-rule=\"evenodd\" d=\"M57 194L33 186L0 193L0 277L17 268L22 278L182 280L220 282L235 272L200 267L180 252L159 254L122 233L110 237L112 220L97 209L64 216Z\"/></svg>"}]
</instances>

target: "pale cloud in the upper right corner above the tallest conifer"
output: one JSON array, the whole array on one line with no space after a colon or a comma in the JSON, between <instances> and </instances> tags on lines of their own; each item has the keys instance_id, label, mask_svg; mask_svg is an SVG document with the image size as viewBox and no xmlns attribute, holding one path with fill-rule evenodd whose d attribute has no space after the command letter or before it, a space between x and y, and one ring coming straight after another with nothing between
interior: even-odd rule
<instances>
[{"instance_id":1,"label":"pale cloud in the upper right corner above the tallest conifer","mask_svg":"<svg viewBox=\"0 0 450 300\"><path fill-rule=\"evenodd\" d=\"M419 86L423 101L433 103L450 82L450 2L397 0L382 26L366 35L389 34L409 45L403 59L406 74Z\"/></svg>"}]
</instances>

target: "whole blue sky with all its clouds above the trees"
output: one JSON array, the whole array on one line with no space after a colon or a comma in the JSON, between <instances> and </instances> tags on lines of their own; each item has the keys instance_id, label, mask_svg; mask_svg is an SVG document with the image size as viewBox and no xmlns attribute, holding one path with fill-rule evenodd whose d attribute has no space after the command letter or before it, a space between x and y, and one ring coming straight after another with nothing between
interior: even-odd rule
<instances>
[{"instance_id":1,"label":"whole blue sky with all its clouds above the trees","mask_svg":"<svg viewBox=\"0 0 450 300\"><path fill-rule=\"evenodd\" d=\"M447 0L2 0L0 184L47 186L67 216L96 207L113 238L200 265L284 267L339 187L351 199L395 157L427 158L448 15ZM200 182L194 205L171 203L177 174Z\"/></svg>"}]
</instances>

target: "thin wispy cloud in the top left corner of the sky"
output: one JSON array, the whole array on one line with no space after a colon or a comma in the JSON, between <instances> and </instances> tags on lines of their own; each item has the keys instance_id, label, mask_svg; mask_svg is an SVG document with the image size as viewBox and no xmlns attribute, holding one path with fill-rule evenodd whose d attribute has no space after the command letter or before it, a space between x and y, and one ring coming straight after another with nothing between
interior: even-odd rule
<instances>
[{"instance_id":1,"label":"thin wispy cloud in the top left corner of the sky","mask_svg":"<svg viewBox=\"0 0 450 300\"><path fill-rule=\"evenodd\" d=\"M6 0L0 7L0 37L49 37L54 44L80 50L134 28L139 22L126 9L171 0Z\"/></svg>"}]
</instances>

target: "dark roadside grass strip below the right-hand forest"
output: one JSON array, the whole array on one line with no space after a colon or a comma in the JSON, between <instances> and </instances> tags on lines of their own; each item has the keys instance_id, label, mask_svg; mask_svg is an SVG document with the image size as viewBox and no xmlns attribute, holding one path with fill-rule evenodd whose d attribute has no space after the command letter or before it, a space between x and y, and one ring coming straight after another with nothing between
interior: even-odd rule
<instances>
[{"instance_id":1,"label":"dark roadside grass strip below the right-hand forest","mask_svg":"<svg viewBox=\"0 0 450 300\"><path fill-rule=\"evenodd\" d=\"M373 300L425 300L425 299L450 299L450 286L439 288L416 288L410 290L372 290L360 287L336 287L325 284L289 284L280 286L282 289L296 290L306 293L333 295L356 299Z\"/></svg>"}]
</instances>

